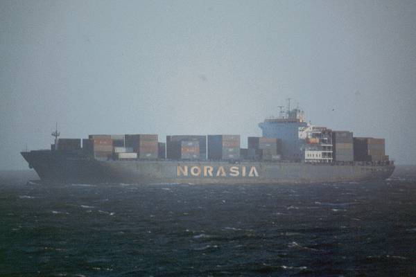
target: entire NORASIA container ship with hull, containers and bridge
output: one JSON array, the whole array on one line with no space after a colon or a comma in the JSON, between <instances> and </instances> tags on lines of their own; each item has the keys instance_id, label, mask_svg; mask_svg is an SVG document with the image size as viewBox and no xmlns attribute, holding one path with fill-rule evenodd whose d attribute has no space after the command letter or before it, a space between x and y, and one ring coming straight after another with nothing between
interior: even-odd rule
<instances>
[{"instance_id":1,"label":"entire NORASIA container ship with hull, containers and bridge","mask_svg":"<svg viewBox=\"0 0 416 277\"><path fill-rule=\"evenodd\" d=\"M279 106L281 107L281 106ZM21 152L42 182L69 184L302 184L388 179L385 140L354 137L307 123L304 111L280 111L259 123L262 136L237 134L90 134L51 149Z\"/></svg>"}]
</instances>

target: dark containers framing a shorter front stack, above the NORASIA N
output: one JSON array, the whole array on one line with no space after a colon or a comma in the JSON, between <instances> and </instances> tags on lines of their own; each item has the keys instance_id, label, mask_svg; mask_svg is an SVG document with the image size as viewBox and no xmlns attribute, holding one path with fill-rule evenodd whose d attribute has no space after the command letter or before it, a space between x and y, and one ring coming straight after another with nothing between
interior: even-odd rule
<instances>
[{"instance_id":1,"label":"dark containers framing a shorter front stack, above the NORASIA N","mask_svg":"<svg viewBox=\"0 0 416 277\"><path fill-rule=\"evenodd\" d=\"M180 147L181 141L198 141L199 143L199 157L198 159L207 159L207 136L166 136L166 157L168 159L177 159L177 148Z\"/></svg>"}]
</instances>

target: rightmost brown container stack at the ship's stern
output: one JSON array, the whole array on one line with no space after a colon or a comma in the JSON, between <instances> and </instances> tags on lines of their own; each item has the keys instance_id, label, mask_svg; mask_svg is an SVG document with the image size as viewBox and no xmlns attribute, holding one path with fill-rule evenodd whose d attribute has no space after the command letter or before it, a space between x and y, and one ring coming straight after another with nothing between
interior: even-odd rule
<instances>
[{"instance_id":1,"label":"rightmost brown container stack at the ship's stern","mask_svg":"<svg viewBox=\"0 0 416 277\"><path fill-rule=\"evenodd\" d=\"M354 161L388 161L384 139L354 138Z\"/></svg>"}]
</instances>

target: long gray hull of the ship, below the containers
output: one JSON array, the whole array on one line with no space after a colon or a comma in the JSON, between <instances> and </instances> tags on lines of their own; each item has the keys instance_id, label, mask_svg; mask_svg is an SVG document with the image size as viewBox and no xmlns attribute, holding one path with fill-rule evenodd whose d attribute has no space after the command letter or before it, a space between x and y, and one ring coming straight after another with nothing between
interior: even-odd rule
<instances>
[{"instance_id":1,"label":"long gray hull of the ship, below the containers","mask_svg":"<svg viewBox=\"0 0 416 277\"><path fill-rule=\"evenodd\" d=\"M395 169L392 165L336 166L257 161L98 161L48 150L21 154L42 181L78 184L300 184L372 181L387 179ZM178 167L182 169L181 172L178 172ZM220 167L223 170L220 170ZM250 175L252 167L255 168L255 172L251 172ZM184 172L187 176L184 176Z\"/></svg>"}]
</instances>

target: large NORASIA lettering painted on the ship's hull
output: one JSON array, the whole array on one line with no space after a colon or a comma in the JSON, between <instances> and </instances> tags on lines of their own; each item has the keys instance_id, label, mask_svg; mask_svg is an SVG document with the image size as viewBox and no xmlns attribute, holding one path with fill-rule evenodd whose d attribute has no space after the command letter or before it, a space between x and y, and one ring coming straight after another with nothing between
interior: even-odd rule
<instances>
[{"instance_id":1,"label":"large NORASIA lettering painted on the ship's hull","mask_svg":"<svg viewBox=\"0 0 416 277\"><path fill-rule=\"evenodd\" d=\"M248 172L248 175L247 175ZM255 166L177 166L177 177L259 177Z\"/></svg>"}]
</instances>

